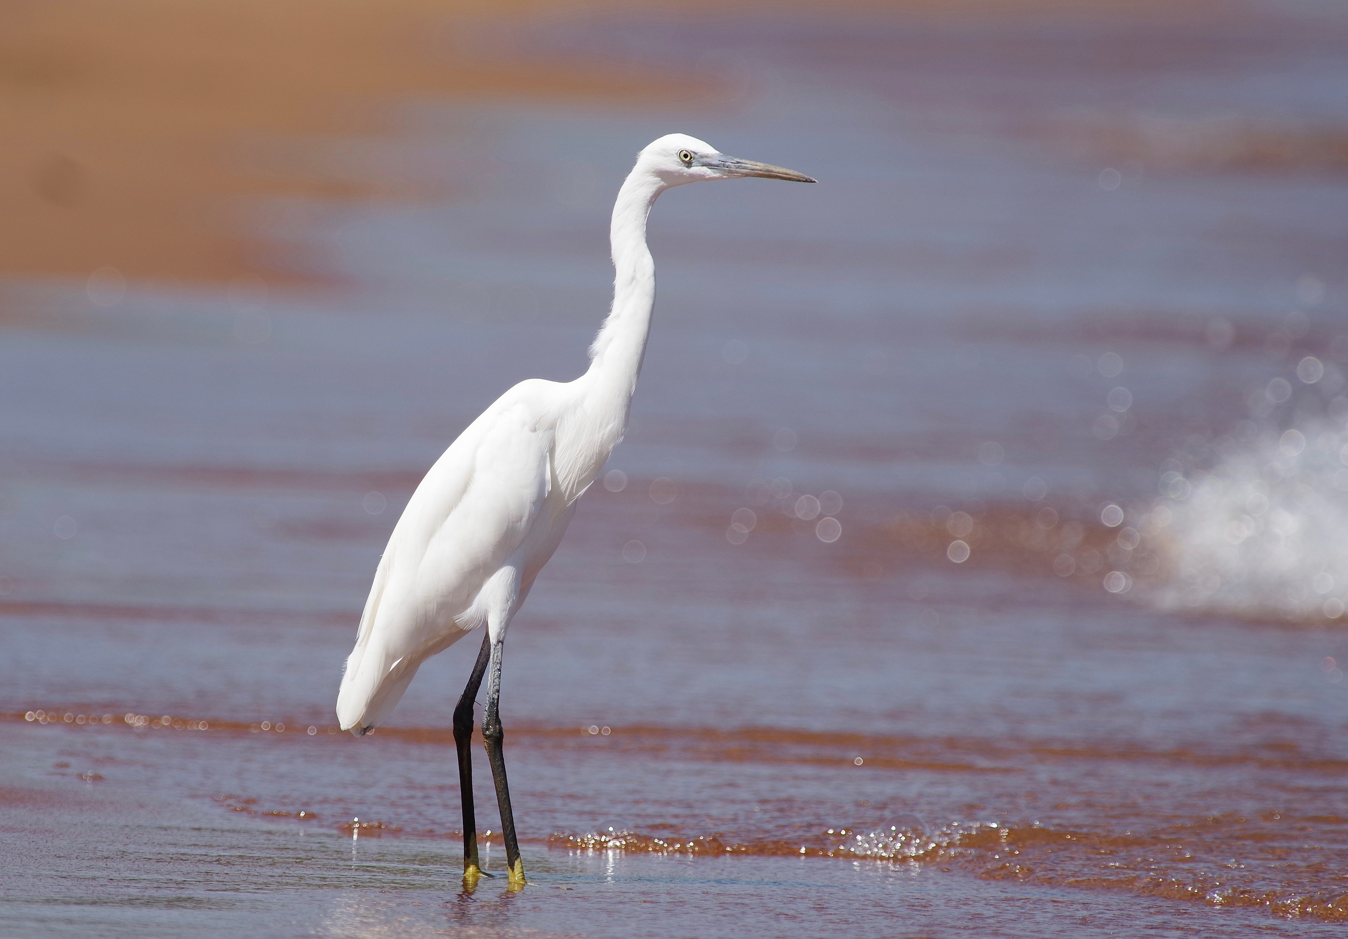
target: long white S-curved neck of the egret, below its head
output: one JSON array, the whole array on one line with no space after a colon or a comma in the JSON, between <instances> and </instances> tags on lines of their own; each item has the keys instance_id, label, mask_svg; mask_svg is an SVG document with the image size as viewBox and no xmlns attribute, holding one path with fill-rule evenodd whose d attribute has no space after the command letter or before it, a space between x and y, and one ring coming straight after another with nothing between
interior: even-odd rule
<instances>
[{"instance_id":1,"label":"long white S-curved neck of the egret, below its head","mask_svg":"<svg viewBox=\"0 0 1348 939\"><path fill-rule=\"evenodd\" d=\"M613 252L613 309L590 345L585 377L620 397L625 423L627 403L646 356L655 306L655 261L646 247L646 217L666 183L638 167L623 182L613 205L609 242Z\"/></svg>"}]
</instances>

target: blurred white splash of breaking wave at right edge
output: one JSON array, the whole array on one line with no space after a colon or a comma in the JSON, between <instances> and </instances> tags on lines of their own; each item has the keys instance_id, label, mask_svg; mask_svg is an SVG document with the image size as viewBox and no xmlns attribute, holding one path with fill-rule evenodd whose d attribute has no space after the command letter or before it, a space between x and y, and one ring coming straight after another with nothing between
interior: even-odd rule
<instances>
[{"instance_id":1,"label":"blurred white splash of breaking wave at right edge","mask_svg":"<svg viewBox=\"0 0 1348 939\"><path fill-rule=\"evenodd\" d=\"M1336 365L1308 357L1298 377L1251 389L1250 419L1206 447L1209 466L1192 454L1162 466L1161 498L1138 515L1167 575L1139 595L1237 616L1344 614L1348 397Z\"/></svg>"}]
</instances>

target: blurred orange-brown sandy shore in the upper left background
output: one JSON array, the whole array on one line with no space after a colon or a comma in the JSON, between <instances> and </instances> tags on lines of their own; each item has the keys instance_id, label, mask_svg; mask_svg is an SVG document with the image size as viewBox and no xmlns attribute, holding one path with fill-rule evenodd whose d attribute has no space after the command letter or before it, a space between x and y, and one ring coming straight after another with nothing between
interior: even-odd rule
<instances>
[{"instance_id":1,"label":"blurred orange-brown sandy shore in the upper left background","mask_svg":"<svg viewBox=\"0 0 1348 939\"><path fill-rule=\"evenodd\" d=\"M632 9L631 4L608 4ZM663 4L669 7L670 4ZM678 8L708 4L679 3ZM856 4L849 4L856 5ZM861 4L907 13L1158 15L1151 4L1038 0ZM648 7L648 5L647 5ZM739 0L717 12L816 4ZM1205 4L1185 4L1193 12ZM569 0L16 0L0 11L0 275L221 282L287 276L276 245L251 244L237 197L352 197L377 179L333 175L306 141L380 131L390 102L492 94L669 97L690 77L634 63L538 61L484 47L500 22L593 16ZM1150 9L1151 12L1143 12ZM1174 12L1163 13L1173 16ZM696 85L697 77L692 78ZM259 166L249 147L287 148ZM315 148L310 147L309 151ZM294 276L293 271L288 276Z\"/></svg>"}]
</instances>

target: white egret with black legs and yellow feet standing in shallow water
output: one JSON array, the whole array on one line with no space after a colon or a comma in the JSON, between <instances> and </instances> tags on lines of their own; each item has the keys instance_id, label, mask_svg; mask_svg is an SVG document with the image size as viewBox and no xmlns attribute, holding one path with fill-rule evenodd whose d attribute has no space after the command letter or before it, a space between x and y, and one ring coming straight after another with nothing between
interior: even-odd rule
<instances>
[{"instance_id":1,"label":"white egret with black legs and yellow feet standing in shallow water","mask_svg":"<svg viewBox=\"0 0 1348 939\"><path fill-rule=\"evenodd\" d=\"M487 626L454 709L469 885L481 876L469 745L484 674L483 741L496 783L506 864L510 882L524 882L501 754L501 644L511 617L562 540L576 501L627 428L655 303L646 218L666 189L739 176L814 182L793 170L725 156L682 133L663 136L638 155L613 206L613 306L590 346L589 369L574 381L522 381L469 424L417 486L375 571L337 697L344 730L363 736L381 723L421 663Z\"/></svg>"}]
</instances>

